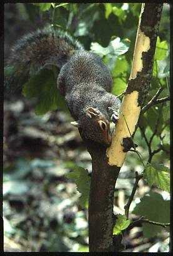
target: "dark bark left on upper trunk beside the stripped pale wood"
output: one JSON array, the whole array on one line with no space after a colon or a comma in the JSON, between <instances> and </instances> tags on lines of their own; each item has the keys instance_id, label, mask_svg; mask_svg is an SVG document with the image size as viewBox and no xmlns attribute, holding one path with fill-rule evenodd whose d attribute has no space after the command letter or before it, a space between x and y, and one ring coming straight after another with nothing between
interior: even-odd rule
<instances>
[{"instance_id":1,"label":"dark bark left on upper trunk beside the stripped pale wood","mask_svg":"<svg viewBox=\"0 0 173 256\"><path fill-rule=\"evenodd\" d=\"M142 105L152 78L152 67L154 61L154 53L156 50L156 40L161 21L163 4L149 3L145 4L144 11L141 16L141 24L139 29L150 38L150 49L142 53L143 68L141 72L137 72L137 77L128 82L126 94L134 90L139 92L138 104Z\"/></svg>"}]
</instances>

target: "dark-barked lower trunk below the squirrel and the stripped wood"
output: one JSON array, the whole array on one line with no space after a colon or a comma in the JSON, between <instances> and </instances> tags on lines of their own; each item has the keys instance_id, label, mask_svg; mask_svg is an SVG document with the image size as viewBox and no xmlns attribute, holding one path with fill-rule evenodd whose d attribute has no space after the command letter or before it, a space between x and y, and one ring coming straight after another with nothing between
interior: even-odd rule
<instances>
[{"instance_id":1,"label":"dark-barked lower trunk below the squirrel and the stripped wood","mask_svg":"<svg viewBox=\"0 0 173 256\"><path fill-rule=\"evenodd\" d=\"M114 252L112 236L115 225L114 188L120 168L107 164L106 147L89 141L86 142L86 146L92 157L89 251Z\"/></svg>"}]
</instances>

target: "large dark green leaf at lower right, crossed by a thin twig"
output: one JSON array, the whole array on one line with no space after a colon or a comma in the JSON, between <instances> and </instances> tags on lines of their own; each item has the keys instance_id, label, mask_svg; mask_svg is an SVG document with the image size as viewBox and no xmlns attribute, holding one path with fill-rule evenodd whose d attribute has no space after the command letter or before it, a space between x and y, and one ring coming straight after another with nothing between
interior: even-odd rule
<instances>
[{"instance_id":1,"label":"large dark green leaf at lower right, crossed by a thin twig","mask_svg":"<svg viewBox=\"0 0 173 256\"><path fill-rule=\"evenodd\" d=\"M136 205L132 213L144 216L148 220L160 223L169 223L170 221L170 201L164 200L159 193L149 192L141 202ZM163 227L142 223L144 237L154 237L165 230Z\"/></svg>"}]
</instances>

